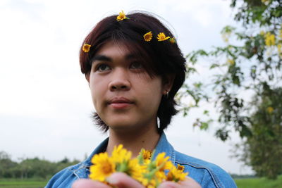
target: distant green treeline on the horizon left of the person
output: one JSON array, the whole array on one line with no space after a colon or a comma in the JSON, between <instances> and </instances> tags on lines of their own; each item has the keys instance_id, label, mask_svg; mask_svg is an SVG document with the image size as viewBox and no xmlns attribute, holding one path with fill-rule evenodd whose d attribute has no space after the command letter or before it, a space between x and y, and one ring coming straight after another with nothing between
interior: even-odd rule
<instances>
[{"instance_id":1,"label":"distant green treeline on the horizon left of the person","mask_svg":"<svg viewBox=\"0 0 282 188\"><path fill-rule=\"evenodd\" d=\"M40 158L23 158L19 162L11 160L5 151L0 151L0 178L42 178L49 177L69 165L79 163L78 160L64 158L59 162L50 162Z\"/></svg>"}]
</instances>

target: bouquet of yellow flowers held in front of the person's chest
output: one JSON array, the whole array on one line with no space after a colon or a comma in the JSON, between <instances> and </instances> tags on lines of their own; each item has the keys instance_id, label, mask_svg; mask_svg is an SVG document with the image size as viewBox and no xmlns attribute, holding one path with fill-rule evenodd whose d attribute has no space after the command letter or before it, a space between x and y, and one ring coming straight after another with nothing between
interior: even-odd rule
<instances>
[{"instance_id":1,"label":"bouquet of yellow flowers held in front of the person's chest","mask_svg":"<svg viewBox=\"0 0 282 188\"><path fill-rule=\"evenodd\" d=\"M123 148L123 145L114 147L111 156L108 153L99 153L93 156L90 166L90 179L106 182L112 173L121 172L137 180L145 187L157 187L164 181L183 181L188 173L183 173L184 167L177 167L169 161L166 153L159 153L154 161L154 151L141 149L136 158L131 158L132 153Z\"/></svg>"}]
</instances>

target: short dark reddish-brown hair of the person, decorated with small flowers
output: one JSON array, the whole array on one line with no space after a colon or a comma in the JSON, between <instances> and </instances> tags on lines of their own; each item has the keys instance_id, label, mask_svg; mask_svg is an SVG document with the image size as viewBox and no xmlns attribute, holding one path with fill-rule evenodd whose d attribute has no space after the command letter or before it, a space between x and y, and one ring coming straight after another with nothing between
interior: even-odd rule
<instances>
[{"instance_id":1,"label":"short dark reddish-brown hair of the person, decorated with small flowers","mask_svg":"<svg viewBox=\"0 0 282 188\"><path fill-rule=\"evenodd\" d=\"M159 42L157 35L164 32L166 36L173 38L172 33L151 13L134 12L126 15L129 19L117 21L118 15L111 15L101 20L85 38L84 44L90 44L88 53L80 49L81 72L87 75L90 73L92 58L106 42L122 42L128 46L128 50L138 56L145 69L151 77L161 76L166 82L168 75L174 76L173 86L168 96L162 96L161 104L157 112L159 118L159 132L162 132L171 118L176 115L176 101L174 96L185 80L185 58L176 42L165 40ZM146 42L143 35L152 32L153 38ZM109 127L103 122L97 113L94 113L94 120L104 132Z\"/></svg>"}]
</instances>

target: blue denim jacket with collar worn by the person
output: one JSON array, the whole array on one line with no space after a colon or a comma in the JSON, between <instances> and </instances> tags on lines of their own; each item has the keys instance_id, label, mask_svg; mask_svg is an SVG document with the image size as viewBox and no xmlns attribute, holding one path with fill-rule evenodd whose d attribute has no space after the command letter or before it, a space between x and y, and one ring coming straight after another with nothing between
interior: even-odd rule
<instances>
[{"instance_id":1,"label":"blue denim jacket with collar worn by the person","mask_svg":"<svg viewBox=\"0 0 282 188\"><path fill-rule=\"evenodd\" d=\"M88 178L90 173L89 167L92 165L91 158L94 154L104 152L108 144L109 138L105 139L87 158L85 161L73 165L71 167L61 170L59 173L54 175L54 177L49 180L46 188L56 187L56 188L66 188L71 187L75 180L81 178ZM201 186L212 188L233 188L237 187L235 182L232 180L231 176L228 175L223 169L219 166L206 161L202 161L198 158L193 158L187 156L183 153L175 151L173 146L168 143L166 135L161 134L159 142L156 146L156 155L161 152L166 152L166 156L170 157L170 160L174 165L184 165L185 172L189 173L189 176L196 180Z\"/></svg>"}]
</instances>

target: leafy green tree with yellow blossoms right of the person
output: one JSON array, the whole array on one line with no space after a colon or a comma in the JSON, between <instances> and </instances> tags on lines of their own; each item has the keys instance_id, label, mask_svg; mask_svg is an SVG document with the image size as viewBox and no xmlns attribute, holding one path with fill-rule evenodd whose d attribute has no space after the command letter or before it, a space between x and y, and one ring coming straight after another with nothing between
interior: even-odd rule
<instances>
[{"instance_id":1,"label":"leafy green tree with yellow blossoms right of the person","mask_svg":"<svg viewBox=\"0 0 282 188\"><path fill-rule=\"evenodd\" d=\"M194 125L206 130L217 121L216 137L223 141L235 130L243 139L243 161L257 175L276 178L282 172L282 1L232 0L231 8L242 27L223 28L226 46L187 56L188 76L197 73L195 64L205 58L213 79L185 84L178 96L194 100L194 105L183 105L184 115L202 100L214 101L219 118L199 118Z\"/></svg>"}]
</instances>

